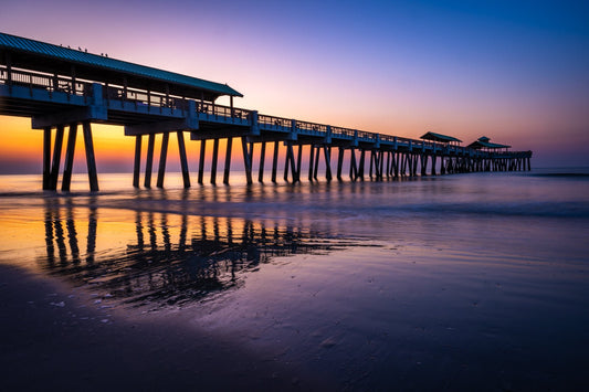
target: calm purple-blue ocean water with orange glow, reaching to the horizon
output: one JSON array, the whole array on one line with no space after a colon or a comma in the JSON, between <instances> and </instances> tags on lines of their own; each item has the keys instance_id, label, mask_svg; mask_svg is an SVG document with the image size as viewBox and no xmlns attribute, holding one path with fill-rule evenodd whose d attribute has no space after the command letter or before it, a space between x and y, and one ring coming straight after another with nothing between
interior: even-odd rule
<instances>
[{"instance_id":1,"label":"calm purple-blue ocean water with orange glow, reaching to the horizon","mask_svg":"<svg viewBox=\"0 0 589 392\"><path fill-rule=\"evenodd\" d=\"M0 263L112 320L230 337L336 390L589 386L589 170L39 191L0 177Z\"/></svg>"}]
</instances>

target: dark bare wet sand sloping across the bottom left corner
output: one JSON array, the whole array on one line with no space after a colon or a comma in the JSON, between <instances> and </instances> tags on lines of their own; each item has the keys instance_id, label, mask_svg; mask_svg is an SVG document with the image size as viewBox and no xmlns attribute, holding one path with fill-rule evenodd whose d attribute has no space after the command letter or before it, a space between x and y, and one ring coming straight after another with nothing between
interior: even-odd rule
<instances>
[{"instance_id":1,"label":"dark bare wet sand sloping across the bottom left corner","mask_svg":"<svg viewBox=\"0 0 589 392\"><path fill-rule=\"evenodd\" d=\"M0 276L4 391L330 389L230 339L96 310L92 297L55 279L4 265Z\"/></svg>"}]
</instances>

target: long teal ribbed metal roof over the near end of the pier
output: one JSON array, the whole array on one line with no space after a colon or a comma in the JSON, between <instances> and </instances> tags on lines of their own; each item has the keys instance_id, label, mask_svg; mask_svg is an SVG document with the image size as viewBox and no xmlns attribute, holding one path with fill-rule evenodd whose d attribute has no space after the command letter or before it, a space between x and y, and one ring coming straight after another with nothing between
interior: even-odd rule
<instances>
[{"instance_id":1,"label":"long teal ribbed metal roof over the near end of the pier","mask_svg":"<svg viewBox=\"0 0 589 392\"><path fill-rule=\"evenodd\" d=\"M0 32L0 50L2 49L82 64L104 71L118 72L135 77L145 77L158 82L181 85L182 87L201 91L203 89L215 95L243 96L227 84L209 82L192 76L181 75L169 71L162 71L145 65L106 57L103 55L87 53L81 50L57 46L50 43L29 40Z\"/></svg>"}]
</instances>

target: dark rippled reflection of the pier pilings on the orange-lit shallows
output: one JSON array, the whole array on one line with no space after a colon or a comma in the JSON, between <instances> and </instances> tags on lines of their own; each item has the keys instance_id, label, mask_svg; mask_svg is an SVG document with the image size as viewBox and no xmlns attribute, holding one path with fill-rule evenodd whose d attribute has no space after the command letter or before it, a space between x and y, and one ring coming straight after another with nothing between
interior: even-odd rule
<instances>
[{"instance_id":1,"label":"dark rippled reflection of the pier pilings on the orange-lit shallows","mask_svg":"<svg viewBox=\"0 0 589 392\"><path fill-rule=\"evenodd\" d=\"M39 258L40 266L76 286L136 306L203 299L239 288L245 273L277 262L276 257L353 244L281 222L151 211L123 211L129 222L135 215L135 233L125 231L127 226L114 233L111 227L101 230L98 210L92 198L84 206L72 204L71 199L48 200L46 257Z\"/></svg>"}]
</instances>

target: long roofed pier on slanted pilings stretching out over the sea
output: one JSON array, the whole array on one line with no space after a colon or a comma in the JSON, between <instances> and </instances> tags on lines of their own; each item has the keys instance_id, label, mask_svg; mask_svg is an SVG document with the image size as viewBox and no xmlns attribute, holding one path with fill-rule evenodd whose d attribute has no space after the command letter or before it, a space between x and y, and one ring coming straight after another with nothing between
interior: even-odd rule
<instances>
[{"instance_id":1,"label":"long roofed pier on slanted pilings stretching out over the sea","mask_svg":"<svg viewBox=\"0 0 589 392\"><path fill-rule=\"evenodd\" d=\"M215 103L221 96L229 97L229 106ZM178 144L185 188L193 180L187 134L200 145L194 149L200 184L218 182L223 155L222 182L230 182L234 140L242 151L248 183L253 183L254 174L260 182L267 180L266 168L272 170L272 182L280 174L284 181L298 182L305 177L316 181L319 167L327 181L530 170L532 151L512 151L486 137L463 147L460 140L440 134L411 139L349 129L235 107L233 100L241 96L225 84L0 33L0 115L29 117L33 129L43 130L44 190L59 188L65 130L61 189L70 190L80 128L90 189L98 191L92 124L123 126L124 135L135 138L133 186L137 188L152 184L156 142L160 144L156 186L164 187L170 134ZM224 151L221 139L227 140ZM141 156L144 141L146 157ZM272 159L266 167L270 148ZM206 162L208 149L212 149L210 162ZM206 163L210 163L208 173Z\"/></svg>"}]
</instances>

